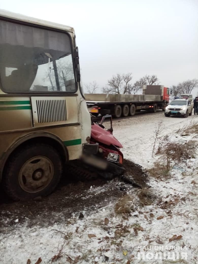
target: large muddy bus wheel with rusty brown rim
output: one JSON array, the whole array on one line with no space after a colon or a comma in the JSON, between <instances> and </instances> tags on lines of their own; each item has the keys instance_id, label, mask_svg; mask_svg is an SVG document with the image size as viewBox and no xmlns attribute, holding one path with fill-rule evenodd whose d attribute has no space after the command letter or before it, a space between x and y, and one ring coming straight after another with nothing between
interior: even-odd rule
<instances>
[{"instance_id":1,"label":"large muddy bus wheel with rusty brown rim","mask_svg":"<svg viewBox=\"0 0 198 264\"><path fill-rule=\"evenodd\" d=\"M62 170L55 148L42 143L27 145L9 158L3 174L4 189L13 200L46 196L59 183Z\"/></svg>"}]
</instances>

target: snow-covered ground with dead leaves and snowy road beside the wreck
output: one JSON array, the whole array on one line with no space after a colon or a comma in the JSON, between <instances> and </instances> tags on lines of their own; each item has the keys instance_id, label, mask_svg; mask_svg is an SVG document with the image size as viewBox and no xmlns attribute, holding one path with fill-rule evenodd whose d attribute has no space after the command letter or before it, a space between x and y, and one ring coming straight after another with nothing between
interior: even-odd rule
<instances>
[{"instance_id":1,"label":"snow-covered ground with dead leaves and snowy road beside the wreck","mask_svg":"<svg viewBox=\"0 0 198 264\"><path fill-rule=\"evenodd\" d=\"M194 117L193 122L197 121ZM181 136L177 132L192 122L191 117L140 114L114 120L114 135L124 147L125 158L145 169L153 166L159 158L152 157L159 122L163 122L161 140L168 134L171 140L198 142L196 134ZM31 219L25 224L16 219L15 225L3 228L0 235L0 263L198 263L196 146L193 158L172 168L170 177L149 178L148 203L142 204L141 190L131 187L116 207L117 211L126 206L130 210L126 214L116 214L117 199L105 208L95 205L94 213L84 211L81 219L76 212L52 226L30 228ZM88 195L100 188L104 187L92 187Z\"/></svg>"}]
</instances>

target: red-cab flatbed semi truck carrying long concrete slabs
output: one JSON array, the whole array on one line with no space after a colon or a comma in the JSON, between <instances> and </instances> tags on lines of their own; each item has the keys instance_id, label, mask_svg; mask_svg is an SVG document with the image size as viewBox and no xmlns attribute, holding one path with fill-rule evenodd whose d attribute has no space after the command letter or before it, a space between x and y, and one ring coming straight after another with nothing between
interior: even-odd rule
<instances>
[{"instance_id":1,"label":"red-cab flatbed semi truck carrying long concrete slabs","mask_svg":"<svg viewBox=\"0 0 198 264\"><path fill-rule=\"evenodd\" d=\"M142 90L142 95L87 93L85 99L89 112L94 116L111 114L119 118L133 116L141 110L165 110L169 102L169 88L163 85L143 85Z\"/></svg>"}]
</instances>

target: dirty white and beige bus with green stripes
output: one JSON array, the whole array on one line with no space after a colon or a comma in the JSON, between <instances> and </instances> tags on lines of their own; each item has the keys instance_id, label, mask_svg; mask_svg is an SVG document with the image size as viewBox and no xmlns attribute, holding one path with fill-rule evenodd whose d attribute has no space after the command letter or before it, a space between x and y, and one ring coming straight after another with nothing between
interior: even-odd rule
<instances>
[{"instance_id":1,"label":"dirty white and beige bus with green stripes","mask_svg":"<svg viewBox=\"0 0 198 264\"><path fill-rule=\"evenodd\" d=\"M0 10L0 124L7 194L48 195L91 135L72 27Z\"/></svg>"}]
</instances>

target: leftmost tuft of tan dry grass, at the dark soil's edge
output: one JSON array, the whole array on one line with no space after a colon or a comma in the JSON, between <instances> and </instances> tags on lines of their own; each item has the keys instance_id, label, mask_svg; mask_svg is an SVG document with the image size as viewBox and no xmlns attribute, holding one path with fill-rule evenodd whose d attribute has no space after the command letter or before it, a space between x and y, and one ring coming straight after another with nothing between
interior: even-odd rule
<instances>
[{"instance_id":1,"label":"leftmost tuft of tan dry grass, at the dark soil's edge","mask_svg":"<svg viewBox=\"0 0 198 264\"><path fill-rule=\"evenodd\" d=\"M131 201L134 200L134 197L126 194L124 195L116 204L115 204L115 213L116 214L130 214L132 210Z\"/></svg>"}]
</instances>

